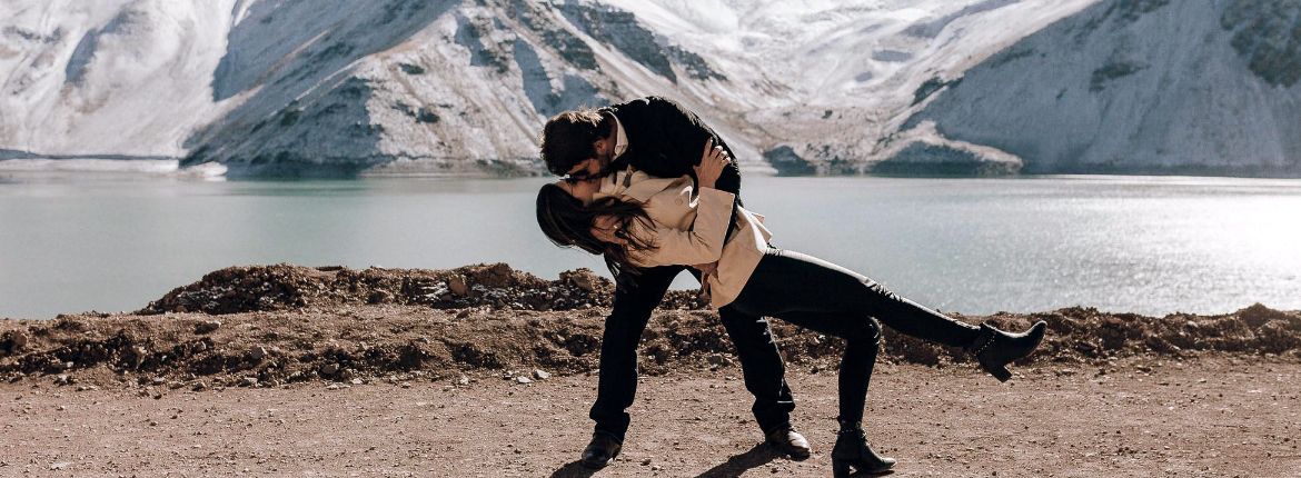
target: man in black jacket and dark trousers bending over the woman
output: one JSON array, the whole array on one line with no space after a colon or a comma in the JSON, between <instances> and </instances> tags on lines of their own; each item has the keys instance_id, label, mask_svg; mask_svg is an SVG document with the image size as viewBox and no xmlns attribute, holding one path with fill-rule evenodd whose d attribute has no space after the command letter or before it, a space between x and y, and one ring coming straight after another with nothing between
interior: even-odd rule
<instances>
[{"instance_id":1,"label":"man in black jacket and dark trousers bending over the woman","mask_svg":"<svg viewBox=\"0 0 1301 478\"><path fill-rule=\"evenodd\" d=\"M662 178L692 174L706 142L721 145L713 130L673 100L649 96L601 109L557 114L543 129L543 161L562 177L604 177L632 166ZM740 170L732 161L717 182L719 190L740 195ZM604 468L618 456L631 417L637 387L637 343L650 312L664 299L674 277L686 268L644 270L630 287L619 287L601 339L601 375L589 417L596 421L592 442L583 449L583 465ZM699 277L699 274L697 274ZM735 312L719 313L727 335L736 346L745 388L755 395L756 422L769 443L792 459L811 453L808 440L791 427L795 408L786 384L786 369L768 321Z\"/></svg>"}]
</instances>

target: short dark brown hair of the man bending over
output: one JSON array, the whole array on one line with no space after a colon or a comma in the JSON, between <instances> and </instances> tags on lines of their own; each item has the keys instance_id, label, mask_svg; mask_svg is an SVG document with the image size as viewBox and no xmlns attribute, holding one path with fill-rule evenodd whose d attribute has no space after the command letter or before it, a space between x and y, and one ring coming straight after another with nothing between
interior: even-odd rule
<instances>
[{"instance_id":1,"label":"short dark brown hair of the man bending over","mask_svg":"<svg viewBox=\"0 0 1301 478\"><path fill-rule=\"evenodd\" d=\"M546 162L546 170L565 175L579 162L595 157L592 143L610 138L613 121L595 108L563 112L546 120L546 126L543 126L543 162Z\"/></svg>"}]
</instances>

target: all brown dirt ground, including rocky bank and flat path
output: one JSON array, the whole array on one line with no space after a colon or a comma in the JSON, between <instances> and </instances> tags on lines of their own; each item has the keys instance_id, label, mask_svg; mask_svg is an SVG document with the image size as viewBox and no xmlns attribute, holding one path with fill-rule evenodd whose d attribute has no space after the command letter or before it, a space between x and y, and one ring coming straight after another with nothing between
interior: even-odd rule
<instances>
[{"instance_id":1,"label":"all brown dirt ground, including rocky bank and flat path","mask_svg":"<svg viewBox=\"0 0 1301 478\"><path fill-rule=\"evenodd\" d=\"M0 477L830 475L839 342L774 321L809 460L762 446L713 312L652 318L589 472L609 283L505 265L215 271L129 314L0 321ZM955 318L1049 339L1008 383L890 334L865 427L895 475L1301 475L1301 313Z\"/></svg>"}]
</instances>

